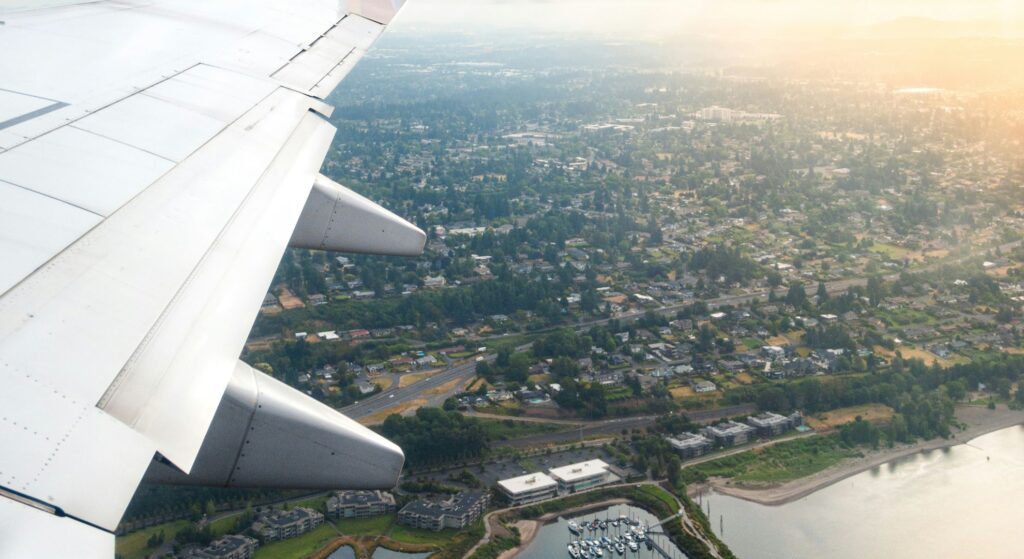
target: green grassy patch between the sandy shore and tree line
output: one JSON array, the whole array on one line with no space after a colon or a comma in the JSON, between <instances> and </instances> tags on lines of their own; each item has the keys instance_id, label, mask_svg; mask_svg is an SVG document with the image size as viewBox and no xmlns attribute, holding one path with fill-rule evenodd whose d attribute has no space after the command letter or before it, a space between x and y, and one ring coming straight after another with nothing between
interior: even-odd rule
<instances>
[{"instance_id":1,"label":"green grassy patch between the sandy shore and tree line","mask_svg":"<svg viewBox=\"0 0 1024 559\"><path fill-rule=\"evenodd\" d=\"M683 470L688 482L709 477L736 481L781 483L800 479L859 456L833 435L812 436L754 448L745 453L705 462Z\"/></svg>"}]
</instances>

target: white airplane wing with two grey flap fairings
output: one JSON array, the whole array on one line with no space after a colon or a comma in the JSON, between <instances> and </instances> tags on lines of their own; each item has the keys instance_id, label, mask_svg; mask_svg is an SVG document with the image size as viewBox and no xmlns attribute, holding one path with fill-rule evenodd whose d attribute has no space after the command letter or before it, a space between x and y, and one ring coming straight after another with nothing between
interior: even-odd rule
<instances>
[{"instance_id":1,"label":"white airplane wing with two grey flap fairings","mask_svg":"<svg viewBox=\"0 0 1024 559\"><path fill-rule=\"evenodd\" d=\"M0 3L0 557L113 556L147 470L394 484L397 446L239 355L290 244L422 251L318 173L403 1Z\"/></svg>"}]
</instances>

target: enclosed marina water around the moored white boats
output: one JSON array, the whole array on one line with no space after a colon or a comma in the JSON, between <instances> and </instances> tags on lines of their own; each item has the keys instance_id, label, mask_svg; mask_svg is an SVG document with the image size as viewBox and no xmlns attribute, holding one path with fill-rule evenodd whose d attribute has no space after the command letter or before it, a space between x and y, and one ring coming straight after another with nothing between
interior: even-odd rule
<instances>
[{"instance_id":1,"label":"enclosed marina water around the moored white boats","mask_svg":"<svg viewBox=\"0 0 1024 559\"><path fill-rule=\"evenodd\" d=\"M590 521L594 518L598 519L614 519L618 518L618 515L626 515L628 517L636 518L641 524L648 524L653 526L657 523L657 518L649 514L643 509L638 509L636 507L631 507L629 505L615 505L613 507L608 507L606 509L600 509L597 511L590 512L583 515L572 515L566 518L559 518L555 522L550 524L545 524L542 526L529 546L524 549L516 559L552 559L552 558L568 558L568 553L565 550L565 545L569 543L570 536L574 540L575 536L569 532L569 520L575 520L577 523L582 523L583 521ZM617 531L616 531L617 530ZM616 533L625 533L623 527L614 528L611 525L608 526L607 531L589 531L583 530L583 536L587 539L600 538L602 534L613 535ZM596 534L596 535L595 535ZM686 555L683 554L678 548L676 548L669 541L666 535L652 534L652 540L657 543L666 552L669 553L671 557L685 558ZM626 555L620 556L614 551L604 552L604 559L620 559L625 557L628 559L642 558L649 559L652 557L660 557L655 551L647 551L647 548L643 545L640 546L640 551L637 553L631 552L629 549L626 550Z\"/></svg>"}]
</instances>

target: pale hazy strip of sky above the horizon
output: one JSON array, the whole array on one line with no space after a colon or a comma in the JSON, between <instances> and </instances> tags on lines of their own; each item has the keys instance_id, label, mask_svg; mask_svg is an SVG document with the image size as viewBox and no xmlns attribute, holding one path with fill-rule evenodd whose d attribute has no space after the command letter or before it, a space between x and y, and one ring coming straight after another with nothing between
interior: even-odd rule
<instances>
[{"instance_id":1,"label":"pale hazy strip of sky above the horizon","mask_svg":"<svg viewBox=\"0 0 1024 559\"><path fill-rule=\"evenodd\" d=\"M623 39L672 39L693 31L781 32L808 25L869 26L904 17L985 22L1024 34L1024 0L408 0L415 29L529 29Z\"/></svg>"}]
</instances>

